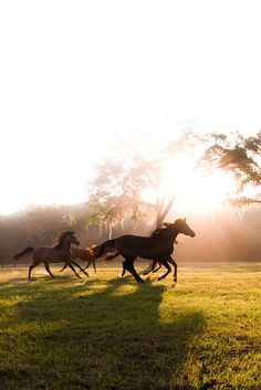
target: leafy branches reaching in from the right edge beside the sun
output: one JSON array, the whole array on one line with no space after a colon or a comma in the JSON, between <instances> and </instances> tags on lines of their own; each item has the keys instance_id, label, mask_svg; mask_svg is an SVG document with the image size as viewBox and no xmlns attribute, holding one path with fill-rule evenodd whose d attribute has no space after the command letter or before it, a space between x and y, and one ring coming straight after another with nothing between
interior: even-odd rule
<instances>
[{"instance_id":1,"label":"leafy branches reaching in from the right edge beside the sun","mask_svg":"<svg viewBox=\"0 0 261 390\"><path fill-rule=\"evenodd\" d=\"M199 165L209 175L222 170L233 176L234 191L228 197L228 203L232 207L261 203L257 196L261 186L261 131L251 137L236 131L230 135L211 134L207 138L209 146Z\"/></svg>"}]
</instances>

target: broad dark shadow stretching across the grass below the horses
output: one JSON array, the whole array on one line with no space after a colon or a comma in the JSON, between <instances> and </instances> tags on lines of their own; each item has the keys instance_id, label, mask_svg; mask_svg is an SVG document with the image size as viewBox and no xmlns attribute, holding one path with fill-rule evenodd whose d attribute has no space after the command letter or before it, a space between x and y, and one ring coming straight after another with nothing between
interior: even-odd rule
<instances>
[{"instance_id":1,"label":"broad dark shadow stretching across the grass below the horses","mask_svg":"<svg viewBox=\"0 0 261 390\"><path fill-rule=\"evenodd\" d=\"M25 289L28 301L3 323L3 389L182 389L176 376L205 320L186 308L164 313L163 285L125 277Z\"/></svg>"}]
</instances>

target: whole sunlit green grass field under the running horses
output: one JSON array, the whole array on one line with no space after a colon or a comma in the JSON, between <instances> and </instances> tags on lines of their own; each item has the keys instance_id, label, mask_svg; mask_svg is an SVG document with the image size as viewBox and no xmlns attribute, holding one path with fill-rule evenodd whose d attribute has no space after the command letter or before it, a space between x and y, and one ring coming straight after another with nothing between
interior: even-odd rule
<instances>
[{"instance_id":1,"label":"whole sunlit green grass field under the running horses","mask_svg":"<svg viewBox=\"0 0 261 390\"><path fill-rule=\"evenodd\" d=\"M0 268L1 390L261 389L261 263L53 271Z\"/></svg>"}]
</instances>

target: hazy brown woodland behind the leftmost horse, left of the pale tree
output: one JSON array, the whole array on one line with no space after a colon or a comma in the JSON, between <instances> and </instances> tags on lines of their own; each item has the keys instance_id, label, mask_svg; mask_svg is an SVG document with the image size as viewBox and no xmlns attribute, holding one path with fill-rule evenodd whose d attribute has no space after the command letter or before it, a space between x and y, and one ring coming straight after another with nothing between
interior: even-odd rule
<instances>
[{"instance_id":1,"label":"hazy brown woodland behind the leftmost horse, left of the pale tree","mask_svg":"<svg viewBox=\"0 0 261 390\"><path fill-rule=\"evenodd\" d=\"M62 231L76 230L82 245L98 234L88 232L88 208L77 207L35 207L24 212L0 217L0 263L12 261L14 253L25 246L52 245ZM96 240L96 239L95 239ZM90 241L92 243L92 241Z\"/></svg>"}]
</instances>

